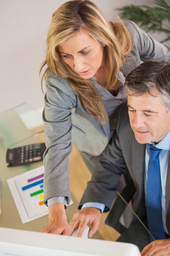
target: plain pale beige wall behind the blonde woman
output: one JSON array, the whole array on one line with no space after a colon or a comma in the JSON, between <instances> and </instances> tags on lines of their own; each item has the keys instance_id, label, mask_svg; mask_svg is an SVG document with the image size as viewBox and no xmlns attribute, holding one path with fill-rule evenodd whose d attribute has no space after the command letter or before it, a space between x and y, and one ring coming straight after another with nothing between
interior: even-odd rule
<instances>
[{"instance_id":1,"label":"plain pale beige wall behind the blonde woman","mask_svg":"<svg viewBox=\"0 0 170 256\"><path fill-rule=\"evenodd\" d=\"M53 11L64 0L0 0L0 112L27 102L42 110L39 69ZM153 0L93 0L108 19L126 4ZM155 35L159 40L160 35Z\"/></svg>"}]
</instances>

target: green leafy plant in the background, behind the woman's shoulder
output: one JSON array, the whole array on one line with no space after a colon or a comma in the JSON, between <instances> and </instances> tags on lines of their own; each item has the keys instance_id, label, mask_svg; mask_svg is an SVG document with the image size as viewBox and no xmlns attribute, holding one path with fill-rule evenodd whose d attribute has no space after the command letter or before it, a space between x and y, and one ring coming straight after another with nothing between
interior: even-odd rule
<instances>
[{"instance_id":1,"label":"green leafy plant in the background, behind the woman's shoulder","mask_svg":"<svg viewBox=\"0 0 170 256\"><path fill-rule=\"evenodd\" d=\"M132 20L145 31L163 32L164 43L170 40L170 5L165 0L154 0L155 7L147 5L126 5L117 9L122 19Z\"/></svg>"}]
</instances>

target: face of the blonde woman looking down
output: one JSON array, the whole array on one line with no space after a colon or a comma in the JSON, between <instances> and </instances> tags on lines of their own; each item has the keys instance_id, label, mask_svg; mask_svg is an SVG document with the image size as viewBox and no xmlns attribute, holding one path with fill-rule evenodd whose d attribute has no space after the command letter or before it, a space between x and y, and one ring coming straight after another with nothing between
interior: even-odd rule
<instances>
[{"instance_id":1,"label":"face of the blonde woman looking down","mask_svg":"<svg viewBox=\"0 0 170 256\"><path fill-rule=\"evenodd\" d=\"M83 30L58 49L63 61L85 79L95 76L99 69L105 70L103 47Z\"/></svg>"}]
</instances>

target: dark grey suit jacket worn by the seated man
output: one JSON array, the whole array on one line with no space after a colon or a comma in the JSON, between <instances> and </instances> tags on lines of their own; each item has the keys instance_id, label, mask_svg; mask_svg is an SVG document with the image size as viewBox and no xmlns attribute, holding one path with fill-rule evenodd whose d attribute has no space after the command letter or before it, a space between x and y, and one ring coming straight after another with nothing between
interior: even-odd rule
<instances>
[{"instance_id":1,"label":"dark grey suit jacket worn by the seated man","mask_svg":"<svg viewBox=\"0 0 170 256\"><path fill-rule=\"evenodd\" d=\"M144 196L144 162L146 144L139 144L130 127L128 108L125 103L119 112L117 128L106 150L100 157L91 182L88 182L79 209L86 202L100 202L110 209L117 193L121 174L129 172L137 192L134 210L143 218L146 216ZM166 178L166 226L170 234L170 158Z\"/></svg>"}]
</instances>

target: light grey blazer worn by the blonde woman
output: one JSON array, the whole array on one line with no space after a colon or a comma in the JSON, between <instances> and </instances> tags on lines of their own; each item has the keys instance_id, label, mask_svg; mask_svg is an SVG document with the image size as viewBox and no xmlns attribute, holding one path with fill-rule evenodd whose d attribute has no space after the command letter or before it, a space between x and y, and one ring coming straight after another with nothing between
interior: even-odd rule
<instances>
[{"instance_id":1,"label":"light grey blazer worn by the blonde woman","mask_svg":"<svg viewBox=\"0 0 170 256\"><path fill-rule=\"evenodd\" d=\"M134 22L125 25L133 39L132 51L122 72L126 77L141 61L170 61L170 47L153 40ZM90 155L100 155L110 140L109 123L103 125L82 108L67 80L53 72L49 76L44 97L43 121L46 137L44 153L44 203L49 198L63 196L71 200L68 156L71 142Z\"/></svg>"}]
</instances>

